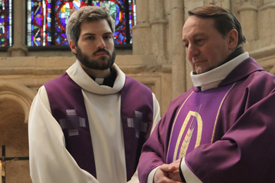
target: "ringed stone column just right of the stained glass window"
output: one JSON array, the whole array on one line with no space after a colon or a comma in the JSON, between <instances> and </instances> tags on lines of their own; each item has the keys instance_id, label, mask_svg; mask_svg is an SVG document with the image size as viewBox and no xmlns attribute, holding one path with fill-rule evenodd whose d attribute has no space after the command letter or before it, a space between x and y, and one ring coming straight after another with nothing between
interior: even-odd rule
<instances>
[{"instance_id":1,"label":"ringed stone column just right of the stained glass window","mask_svg":"<svg viewBox=\"0 0 275 183\"><path fill-rule=\"evenodd\" d=\"M137 24L132 27L133 32L133 54L149 55L152 54L150 42L149 25L149 1L138 0L136 2Z\"/></svg>"}]
</instances>

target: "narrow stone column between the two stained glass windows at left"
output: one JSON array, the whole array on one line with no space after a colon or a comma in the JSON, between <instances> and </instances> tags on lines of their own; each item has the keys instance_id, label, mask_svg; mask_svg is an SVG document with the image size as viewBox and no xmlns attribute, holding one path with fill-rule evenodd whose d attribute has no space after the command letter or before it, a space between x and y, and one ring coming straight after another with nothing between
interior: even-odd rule
<instances>
[{"instance_id":1,"label":"narrow stone column between the two stained glass windows at left","mask_svg":"<svg viewBox=\"0 0 275 183\"><path fill-rule=\"evenodd\" d=\"M26 56L25 46L25 1L13 1L13 46L8 49L11 56Z\"/></svg>"}]
</instances>

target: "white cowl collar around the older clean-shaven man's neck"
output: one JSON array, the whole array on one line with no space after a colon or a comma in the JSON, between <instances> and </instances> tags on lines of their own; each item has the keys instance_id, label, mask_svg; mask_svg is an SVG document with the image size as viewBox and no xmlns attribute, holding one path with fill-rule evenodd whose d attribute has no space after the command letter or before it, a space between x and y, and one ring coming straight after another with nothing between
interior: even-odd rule
<instances>
[{"instance_id":1,"label":"white cowl collar around the older clean-shaven man's neck","mask_svg":"<svg viewBox=\"0 0 275 183\"><path fill-rule=\"evenodd\" d=\"M194 87L201 87L201 90L207 90L216 88L219 86L222 80L239 65L242 61L249 57L248 52L242 53L236 58L233 58L231 61L220 65L213 70L204 72L199 75L194 75L193 71L190 73L191 80L194 84Z\"/></svg>"}]
</instances>

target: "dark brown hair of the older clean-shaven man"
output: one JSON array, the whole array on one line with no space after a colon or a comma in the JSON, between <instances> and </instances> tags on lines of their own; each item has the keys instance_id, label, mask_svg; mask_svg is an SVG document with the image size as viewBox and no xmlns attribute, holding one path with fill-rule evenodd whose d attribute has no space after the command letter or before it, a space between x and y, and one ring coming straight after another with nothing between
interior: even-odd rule
<instances>
[{"instance_id":1,"label":"dark brown hair of the older clean-shaven man","mask_svg":"<svg viewBox=\"0 0 275 183\"><path fill-rule=\"evenodd\" d=\"M226 8L216 5L207 5L188 11L188 15L196 15L202 18L213 18L214 26L224 37L232 29L238 32L238 46L246 42L242 27L236 15Z\"/></svg>"}]
</instances>

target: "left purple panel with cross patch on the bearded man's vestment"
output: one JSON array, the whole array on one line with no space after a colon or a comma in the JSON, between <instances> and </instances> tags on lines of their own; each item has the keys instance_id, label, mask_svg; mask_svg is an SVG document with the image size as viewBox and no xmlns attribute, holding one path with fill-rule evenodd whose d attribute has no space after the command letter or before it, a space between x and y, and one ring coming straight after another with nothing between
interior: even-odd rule
<instances>
[{"instance_id":1,"label":"left purple panel with cross patch on the bearded man's vestment","mask_svg":"<svg viewBox=\"0 0 275 183\"><path fill-rule=\"evenodd\" d=\"M44 84L51 113L59 122L66 141L66 149L80 168L96 177L92 139L81 88L67 73Z\"/></svg>"}]
</instances>

